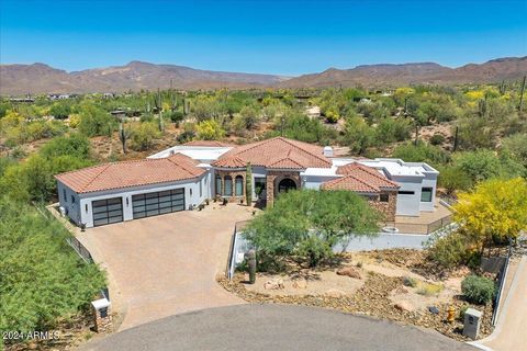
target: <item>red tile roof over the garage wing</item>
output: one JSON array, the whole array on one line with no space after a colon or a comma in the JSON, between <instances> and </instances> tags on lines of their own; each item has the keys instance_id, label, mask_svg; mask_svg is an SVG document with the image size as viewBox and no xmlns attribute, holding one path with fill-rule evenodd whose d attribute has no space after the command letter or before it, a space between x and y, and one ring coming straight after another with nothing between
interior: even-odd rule
<instances>
[{"instance_id":1,"label":"red tile roof over the garage wing","mask_svg":"<svg viewBox=\"0 0 527 351\"><path fill-rule=\"evenodd\" d=\"M122 161L89 167L55 176L77 193L141 186L200 177L204 169L182 154L167 158Z\"/></svg>"}]
</instances>

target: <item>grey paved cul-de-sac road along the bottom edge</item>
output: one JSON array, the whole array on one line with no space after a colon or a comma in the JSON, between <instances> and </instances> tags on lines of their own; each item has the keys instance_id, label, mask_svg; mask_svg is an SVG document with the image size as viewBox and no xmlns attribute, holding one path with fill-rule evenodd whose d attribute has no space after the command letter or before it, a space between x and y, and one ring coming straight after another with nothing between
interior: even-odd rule
<instances>
[{"instance_id":1,"label":"grey paved cul-de-sac road along the bottom edge","mask_svg":"<svg viewBox=\"0 0 527 351\"><path fill-rule=\"evenodd\" d=\"M291 305L237 305L171 316L83 351L461 351L475 348L438 332L335 310Z\"/></svg>"}]
</instances>

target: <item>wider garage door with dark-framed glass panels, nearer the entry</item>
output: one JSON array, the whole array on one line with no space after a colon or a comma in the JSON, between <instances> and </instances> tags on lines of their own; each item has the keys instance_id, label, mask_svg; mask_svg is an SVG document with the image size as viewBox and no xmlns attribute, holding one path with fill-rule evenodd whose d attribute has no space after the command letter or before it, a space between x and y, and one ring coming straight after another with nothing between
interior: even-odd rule
<instances>
[{"instance_id":1,"label":"wider garage door with dark-framed glass panels, nearer the entry","mask_svg":"<svg viewBox=\"0 0 527 351\"><path fill-rule=\"evenodd\" d=\"M132 196L134 219L184 210L184 189L173 189Z\"/></svg>"}]
</instances>

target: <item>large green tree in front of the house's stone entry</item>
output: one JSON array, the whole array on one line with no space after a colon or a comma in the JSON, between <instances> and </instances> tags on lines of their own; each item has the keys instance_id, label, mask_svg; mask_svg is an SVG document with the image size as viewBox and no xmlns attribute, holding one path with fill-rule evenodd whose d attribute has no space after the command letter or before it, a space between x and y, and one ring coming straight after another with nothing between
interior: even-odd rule
<instances>
[{"instance_id":1,"label":"large green tree in front of the house's stone entry","mask_svg":"<svg viewBox=\"0 0 527 351\"><path fill-rule=\"evenodd\" d=\"M257 216L244 236L257 249L260 264L280 268L296 257L316 267L333 247L354 236L374 236L380 214L348 191L290 191ZM260 265L261 268L261 265Z\"/></svg>"}]
</instances>

